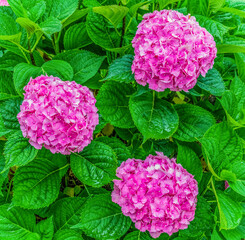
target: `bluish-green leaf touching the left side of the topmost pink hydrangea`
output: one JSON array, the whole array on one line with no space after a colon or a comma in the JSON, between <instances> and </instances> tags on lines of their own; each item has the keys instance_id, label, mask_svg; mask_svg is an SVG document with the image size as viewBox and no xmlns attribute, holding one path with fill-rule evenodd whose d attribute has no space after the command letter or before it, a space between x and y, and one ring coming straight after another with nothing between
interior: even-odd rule
<instances>
[{"instance_id":1,"label":"bluish-green leaf touching the left side of the topmost pink hydrangea","mask_svg":"<svg viewBox=\"0 0 245 240\"><path fill-rule=\"evenodd\" d=\"M109 66L108 75L103 80L113 80L125 83L134 81L134 75L131 70L133 58L132 55L125 55L122 58L113 61Z\"/></svg>"}]
</instances>

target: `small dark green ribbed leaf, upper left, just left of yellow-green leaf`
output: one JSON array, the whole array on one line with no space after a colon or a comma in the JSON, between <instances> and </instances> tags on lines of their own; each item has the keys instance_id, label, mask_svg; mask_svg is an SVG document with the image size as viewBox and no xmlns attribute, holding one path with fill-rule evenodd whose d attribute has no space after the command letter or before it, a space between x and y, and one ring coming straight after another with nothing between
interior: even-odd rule
<instances>
[{"instance_id":1,"label":"small dark green ribbed leaf, upper left, just left of yellow-green leaf","mask_svg":"<svg viewBox=\"0 0 245 240\"><path fill-rule=\"evenodd\" d=\"M64 47L66 50L82 48L91 43L92 41L88 36L85 23L72 25L65 32Z\"/></svg>"}]
</instances>

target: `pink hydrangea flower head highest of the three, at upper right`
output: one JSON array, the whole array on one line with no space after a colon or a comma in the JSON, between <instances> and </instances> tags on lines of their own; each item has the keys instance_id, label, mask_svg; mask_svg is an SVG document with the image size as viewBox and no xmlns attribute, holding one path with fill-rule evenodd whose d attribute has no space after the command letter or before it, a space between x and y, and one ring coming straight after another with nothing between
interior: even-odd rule
<instances>
[{"instance_id":1,"label":"pink hydrangea flower head highest of the three, at upper right","mask_svg":"<svg viewBox=\"0 0 245 240\"><path fill-rule=\"evenodd\" d=\"M136 81L156 91L188 91L205 77L216 58L213 36L195 17L173 10L143 16L132 41Z\"/></svg>"}]
</instances>

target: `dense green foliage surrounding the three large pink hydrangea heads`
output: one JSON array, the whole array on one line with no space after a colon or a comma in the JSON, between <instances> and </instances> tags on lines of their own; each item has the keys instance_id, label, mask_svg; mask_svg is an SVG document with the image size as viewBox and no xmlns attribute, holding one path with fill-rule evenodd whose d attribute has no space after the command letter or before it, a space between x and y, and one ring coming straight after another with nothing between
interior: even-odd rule
<instances>
[{"instance_id":1,"label":"dense green foliage surrounding the three large pink hydrangea heads","mask_svg":"<svg viewBox=\"0 0 245 240\"><path fill-rule=\"evenodd\" d=\"M243 0L8 3L0 6L0 239L152 240L111 192L124 161L156 152L177 158L199 189L188 228L157 240L245 238ZM132 74L137 26L163 9L190 13L216 42L214 67L189 92L152 91ZM83 151L52 154L23 137L23 88L40 75L96 98L99 124Z\"/></svg>"}]
</instances>

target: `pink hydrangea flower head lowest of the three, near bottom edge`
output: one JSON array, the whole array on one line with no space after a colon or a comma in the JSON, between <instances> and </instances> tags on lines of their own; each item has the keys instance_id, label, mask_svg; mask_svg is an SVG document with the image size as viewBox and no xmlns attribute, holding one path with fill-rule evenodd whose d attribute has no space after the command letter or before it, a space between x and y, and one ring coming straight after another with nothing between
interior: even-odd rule
<instances>
[{"instance_id":1,"label":"pink hydrangea flower head lowest of the three, near bottom edge","mask_svg":"<svg viewBox=\"0 0 245 240\"><path fill-rule=\"evenodd\" d=\"M198 187L193 175L163 153L128 159L117 169L112 201L135 227L153 238L186 229L194 219Z\"/></svg>"}]
</instances>

